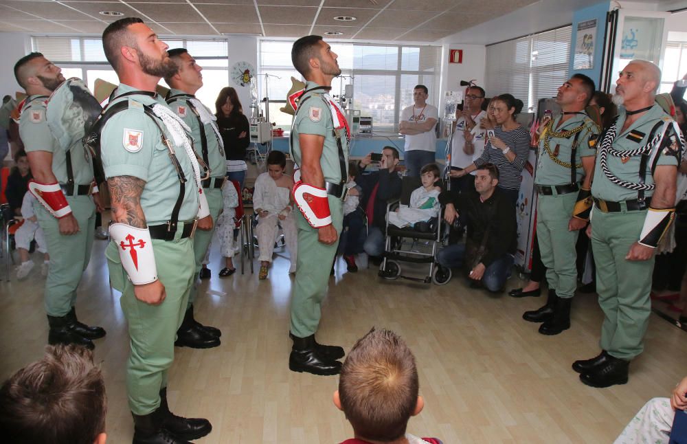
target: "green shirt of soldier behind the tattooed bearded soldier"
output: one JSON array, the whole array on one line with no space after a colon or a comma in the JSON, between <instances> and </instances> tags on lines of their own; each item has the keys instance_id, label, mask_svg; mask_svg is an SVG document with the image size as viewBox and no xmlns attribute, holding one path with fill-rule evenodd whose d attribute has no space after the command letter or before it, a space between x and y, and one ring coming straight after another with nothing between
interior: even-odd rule
<instances>
[{"instance_id":1,"label":"green shirt of soldier behind the tattooed bearded soldier","mask_svg":"<svg viewBox=\"0 0 687 444\"><path fill-rule=\"evenodd\" d=\"M210 168L210 177L225 177L227 173L227 161L222 146L222 139L217 130L217 124L214 120L203 123L201 118L203 113L207 116L212 116L210 109L205 105L201 109L195 109L194 104L190 103L191 98L195 98L192 94L185 93L179 89L170 89L168 95L168 103L172 111L176 113L181 120L191 129L191 137L193 138L193 148L198 155L203 159L203 162ZM196 112L198 114L196 114ZM201 131L205 132L206 152L203 152L203 137Z\"/></svg>"}]
</instances>

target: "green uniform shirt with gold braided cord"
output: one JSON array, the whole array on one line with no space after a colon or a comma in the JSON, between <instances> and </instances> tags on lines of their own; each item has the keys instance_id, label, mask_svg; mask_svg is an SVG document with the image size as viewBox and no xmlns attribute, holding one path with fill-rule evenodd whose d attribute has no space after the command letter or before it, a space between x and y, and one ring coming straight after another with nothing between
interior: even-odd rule
<instances>
[{"instance_id":1,"label":"green uniform shirt with gold braided cord","mask_svg":"<svg viewBox=\"0 0 687 444\"><path fill-rule=\"evenodd\" d=\"M575 153L575 182L582 180L585 170L582 168L582 157L596 155L592 144L596 143L599 129L586 114L575 114L566 120L560 127L559 122L563 115L554 119L552 126L541 135L539 140L539 157L537 159L537 172L534 175L534 184L543 186L555 186L570 184L572 182L572 144L576 131L580 127L580 135L577 137L577 149ZM563 137L568 133L567 137ZM559 135L559 137L552 137Z\"/></svg>"}]
</instances>

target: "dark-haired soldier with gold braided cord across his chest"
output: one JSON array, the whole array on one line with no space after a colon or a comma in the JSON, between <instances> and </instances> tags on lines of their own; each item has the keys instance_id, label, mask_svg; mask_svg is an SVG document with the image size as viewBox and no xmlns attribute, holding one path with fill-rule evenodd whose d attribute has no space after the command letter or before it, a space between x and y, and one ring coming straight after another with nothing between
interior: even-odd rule
<instances>
[{"instance_id":1,"label":"dark-haired soldier with gold braided cord across his chest","mask_svg":"<svg viewBox=\"0 0 687 444\"><path fill-rule=\"evenodd\" d=\"M595 89L594 80L583 74L563 83L556 96L563 114L544 122L539 140L534 173L537 238L549 295L543 307L526 311L523 319L543 322L539 326L543 335L557 335L570 328L570 304L577 289L575 243L589 220L589 186L596 154L593 146L600 132L584 112Z\"/></svg>"}]
</instances>

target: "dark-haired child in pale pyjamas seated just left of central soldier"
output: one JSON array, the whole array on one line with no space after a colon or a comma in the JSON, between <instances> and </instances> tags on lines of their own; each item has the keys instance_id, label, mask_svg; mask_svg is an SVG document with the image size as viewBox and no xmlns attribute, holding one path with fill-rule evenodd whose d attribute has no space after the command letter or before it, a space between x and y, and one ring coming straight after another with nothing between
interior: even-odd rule
<instances>
[{"instance_id":1,"label":"dark-haired child in pale pyjamas seated just left of central soldier","mask_svg":"<svg viewBox=\"0 0 687 444\"><path fill-rule=\"evenodd\" d=\"M258 248L260 249L260 272L258 278L267 278L267 269L272 262L272 252L278 232L278 225L282 226L284 241L291 256L289 273L296 271L297 231L293 219L293 203L291 190L293 178L284 174L286 156L281 151L272 151L267 156L267 173L262 173L256 179L253 192L253 207L258 214Z\"/></svg>"}]
</instances>

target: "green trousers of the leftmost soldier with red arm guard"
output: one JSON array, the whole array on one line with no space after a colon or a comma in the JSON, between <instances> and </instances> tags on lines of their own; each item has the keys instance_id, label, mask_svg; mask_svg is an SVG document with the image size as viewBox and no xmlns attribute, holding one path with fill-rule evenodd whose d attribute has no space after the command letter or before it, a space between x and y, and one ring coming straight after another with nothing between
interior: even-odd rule
<instances>
[{"instance_id":1,"label":"green trousers of the leftmost soldier with red arm guard","mask_svg":"<svg viewBox=\"0 0 687 444\"><path fill-rule=\"evenodd\" d=\"M95 204L90 196L67 196L71 212L79 224L76 234L60 234L58 219L41 203L34 204L36 219L45 233L50 268L45 279L45 311L64 316L76 304L76 287L91 260L95 232Z\"/></svg>"}]
</instances>

